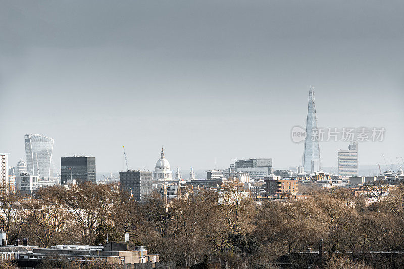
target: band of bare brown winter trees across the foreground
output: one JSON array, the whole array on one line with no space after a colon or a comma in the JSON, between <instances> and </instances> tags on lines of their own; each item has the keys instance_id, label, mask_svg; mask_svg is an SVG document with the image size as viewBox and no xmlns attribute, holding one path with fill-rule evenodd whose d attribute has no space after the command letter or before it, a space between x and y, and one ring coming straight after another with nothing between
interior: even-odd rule
<instances>
[{"instance_id":1,"label":"band of bare brown winter trees across the foreground","mask_svg":"<svg viewBox=\"0 0 404 269\"><path fill-rule=\"evenodd\" d=\"M157 193L137 203L113 184L54 186L26 200L2 192L0 228L9 243L29 238L40 247L123 241L129 233L136 245L186 269L273 268L283 254L317 250L320 239L325 251L352 253L352 260L342 258L356 268L365 267L374 251L404 249L403 185L371 205L364 196L335 189L256 206L240 190L230 184L223 193L195 191L168 205ZM392 262L400 261L379 261L380 268Z\"/></svg>"}]
</instances>

